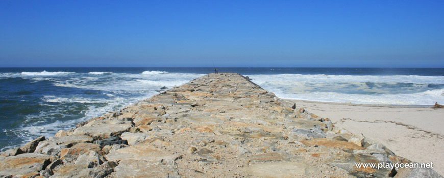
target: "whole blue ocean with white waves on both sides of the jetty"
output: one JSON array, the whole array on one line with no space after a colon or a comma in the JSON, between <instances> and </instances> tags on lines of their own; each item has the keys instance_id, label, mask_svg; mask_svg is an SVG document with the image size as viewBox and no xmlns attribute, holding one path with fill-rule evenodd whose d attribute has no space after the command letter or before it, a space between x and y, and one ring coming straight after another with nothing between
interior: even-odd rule
<instances>
[{"instance_id":1,"label":"whole blue ocean with white waves on both sides of the jetty","mask_svg":"<svg viewBox=\"0 0 444 178\"><path fill-rule=\"evenodd\" d=\"M444 68L218 68L284 99L444 104ZM184 84L213 68L0 68L0 150Z\"/></svg>"}]
</instances>

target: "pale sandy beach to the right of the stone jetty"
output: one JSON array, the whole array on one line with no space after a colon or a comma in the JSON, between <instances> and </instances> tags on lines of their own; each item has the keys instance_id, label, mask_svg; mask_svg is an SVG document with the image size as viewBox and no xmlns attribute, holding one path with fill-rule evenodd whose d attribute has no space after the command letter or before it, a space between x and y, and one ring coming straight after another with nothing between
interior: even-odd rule
<instances>
[{"instance_id":1,"label":"pale sandy beach to the right of the stone jetty","mask_svg":"<svg viewBox=\"0 0 444 178\"><path fill-rule=\"evenodd\" d=\"M444 109L292 100L298 107L330 118L337 127L383 143L401 157L433 162L444 174Z\"/></svg>"}]
</instances>

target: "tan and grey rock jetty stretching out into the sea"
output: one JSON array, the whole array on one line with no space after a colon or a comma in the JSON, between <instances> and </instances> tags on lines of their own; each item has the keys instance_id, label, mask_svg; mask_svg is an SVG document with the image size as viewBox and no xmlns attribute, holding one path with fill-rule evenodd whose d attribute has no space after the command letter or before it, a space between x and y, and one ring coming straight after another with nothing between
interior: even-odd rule
<instances>
[{"instance_id":1,"label":"tan and grey rock jetty stretching out into the sea","mask_svg":"<svg viewBox=\"0 0 444 178\"><path fill-rule=\"evenodd\" d=\"M442 177L235 73L208 74L1 153L1 177Z\"/></svg>"}]
</instances>

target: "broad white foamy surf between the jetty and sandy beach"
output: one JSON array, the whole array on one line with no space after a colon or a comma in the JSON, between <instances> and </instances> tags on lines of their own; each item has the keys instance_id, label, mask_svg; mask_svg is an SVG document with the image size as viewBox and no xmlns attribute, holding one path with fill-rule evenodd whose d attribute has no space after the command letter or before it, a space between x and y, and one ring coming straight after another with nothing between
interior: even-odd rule
<instances>
[{"instance_id":1,"label":"broad white foamy surf between the jetty and sandy beach","mask_svg":"<svg viewBox=\"0 0 444 178\"><path fill-rule=\"evenodd\" d=\"M444 103L444 76L249 75L280 98L388 105Z\"/></svg>"}]
</instances>

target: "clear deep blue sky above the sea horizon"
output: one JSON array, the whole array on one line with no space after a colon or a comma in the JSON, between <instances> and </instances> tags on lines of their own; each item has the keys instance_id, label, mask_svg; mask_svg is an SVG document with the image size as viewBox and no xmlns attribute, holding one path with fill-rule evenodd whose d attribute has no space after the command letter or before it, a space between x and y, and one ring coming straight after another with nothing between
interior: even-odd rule
<instances>
[{"instance_id":1,"label":"clear deep blue sky above the sea horizon","mask_svg":"<svg viewBox=\"0 0 444 178\"><path fill-rule=\"evenodd\" d=\"M0 1L0 67L444 67L444 1Z\"/></svg>"}]
</instances>

